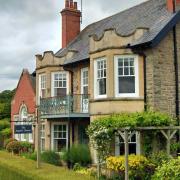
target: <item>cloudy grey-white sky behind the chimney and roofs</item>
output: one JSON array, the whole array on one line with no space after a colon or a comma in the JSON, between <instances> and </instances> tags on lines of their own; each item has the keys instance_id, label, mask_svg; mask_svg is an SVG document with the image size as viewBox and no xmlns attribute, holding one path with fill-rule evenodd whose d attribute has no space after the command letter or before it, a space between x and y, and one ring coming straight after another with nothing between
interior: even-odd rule
<instances>
[{"instance_id":1,"label":"cloudy grey-white sky behind the chimney and roofs","mask_svg":"<svg viewBox=\"0 0 180 180\"><path fill-rule=\"evenodd\" d=\"M81 0L77 0L80 5ZM145 0L83 0L82 28ZM35 54L61 48L64 0L0 0L0 92L14 89Z\"/></svg>"}]
</instances>

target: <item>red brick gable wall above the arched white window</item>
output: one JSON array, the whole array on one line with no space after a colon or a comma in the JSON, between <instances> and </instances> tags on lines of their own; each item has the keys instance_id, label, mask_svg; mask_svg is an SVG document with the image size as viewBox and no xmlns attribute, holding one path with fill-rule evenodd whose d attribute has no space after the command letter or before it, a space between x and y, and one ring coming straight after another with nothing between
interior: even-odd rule
<instances>
[{"instance_id":1,"label":"red brick gable wall above the arched white window","mask_svg":"<svg viewBox=\"0 0 180 180\"><path fill-rule=\"evenodd\" d=\"M15 96L11 102L11 121L14 120L14 115L19 114L22 104L26 105L28 114L35 113L35 92L27 70L21 74ZM11 127L13 127L13 123L11 123Z\"/></svg>"}]
</instances>

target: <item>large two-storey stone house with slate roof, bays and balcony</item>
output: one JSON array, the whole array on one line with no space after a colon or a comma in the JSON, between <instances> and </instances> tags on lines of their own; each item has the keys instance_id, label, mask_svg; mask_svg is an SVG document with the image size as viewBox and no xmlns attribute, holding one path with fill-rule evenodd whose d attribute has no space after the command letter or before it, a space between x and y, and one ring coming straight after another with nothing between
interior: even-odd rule
<instances>
[{"instance_id":1,"label":"large two-storey stone house with slate roof, bays and balcony","mask_svg":"<svg viewBox=\"0 0 180 180\"><path fill-rule=\"evenodd\" d=\"M62 48L36 55L43 149L87 143L86 128L99 116L147 108L179 116L179 7L149 0L80 31L77 3L65 1Z\"/></svg>"}]
</instances>

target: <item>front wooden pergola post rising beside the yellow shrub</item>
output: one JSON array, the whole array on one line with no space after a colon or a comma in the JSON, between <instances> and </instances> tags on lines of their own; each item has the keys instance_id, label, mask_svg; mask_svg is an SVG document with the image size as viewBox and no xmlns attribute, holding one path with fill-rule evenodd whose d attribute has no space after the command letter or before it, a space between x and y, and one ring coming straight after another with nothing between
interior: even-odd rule
<instances>
[{"instance_id":1,"label":"front wooden pergola post rising beside the yellow shrub","mask_svg":"<svg viewBox=\"0 0 180 180\"><path fill-rule=\"evenodd\" d=\"M128 165L128 155L129 155L129 144L128 144L128 130L124 131L124 143L125 143L125 180L129 180L129 165Z\"/></svg>"}]
</instances>

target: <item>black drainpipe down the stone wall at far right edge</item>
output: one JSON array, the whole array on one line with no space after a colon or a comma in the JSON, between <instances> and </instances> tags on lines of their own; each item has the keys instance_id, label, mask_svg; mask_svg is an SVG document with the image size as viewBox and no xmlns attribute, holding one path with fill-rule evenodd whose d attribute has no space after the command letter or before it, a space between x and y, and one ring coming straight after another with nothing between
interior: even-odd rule
<instances>
[{"instance_id":1,"label":"black drainpipe down the stone wall at far right edge","mask_svg":"<svg viewBox=\"0 0 180 180\"><path fill-rule=\"evenodd\" d=\"M176 12L176 4L175 0L173 0L173 13ZM175 89L176 89L176 118L178 121L178 125L180 126L179 122L179 73L178 73L178 55L177 55L177 34L176 34L176 26L173 27L173 46L174 46L174 69L175 69ZM180 131L179 131L179 137L180 141Z\"/></svg>"}]
</instances>

